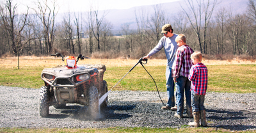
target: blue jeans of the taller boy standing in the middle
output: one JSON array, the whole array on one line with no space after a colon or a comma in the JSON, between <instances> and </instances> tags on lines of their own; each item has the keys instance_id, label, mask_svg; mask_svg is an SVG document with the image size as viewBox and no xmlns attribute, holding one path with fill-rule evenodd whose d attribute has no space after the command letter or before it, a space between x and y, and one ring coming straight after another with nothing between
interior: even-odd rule
<instances>
[{"instance_id":1,"label":"blue jeans of the taller boy standing in the middle","mask_svg":"<svg viewBox=\"0 0 256 133\"><path fill-rule=\"evenodd\" d=\"M191 81L188 80L188 77L184 76L179 76L176 80L177 82L175 83L175 85L177 88L177 114L181 116L184 111L184 90L186 95L186 106L191 108Z\"/></svg>"}]
</instances>

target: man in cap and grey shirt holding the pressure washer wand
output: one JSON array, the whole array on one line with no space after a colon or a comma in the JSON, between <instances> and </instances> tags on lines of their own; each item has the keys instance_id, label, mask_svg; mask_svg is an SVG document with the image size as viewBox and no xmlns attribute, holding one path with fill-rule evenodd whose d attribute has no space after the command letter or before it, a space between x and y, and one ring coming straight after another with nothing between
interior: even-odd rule
<instances>
[{"instance_id":1,"label":"man in cap and grey shirt holding the pressure washer wand","mask_svg":"<svg viewBox=\"0 0 256 133\"><path fill-rule=\"evenodd\" d=\"M175 42L176 34L173 34L173 29L170 24L165 24L162 27L163 37L159 40L156 47L150 51L147 56L143 57L143 59L148 59L149 57L156 54L162 48L164 48L165 56L167 58L167 67L166 67L166 88L167 88L167 96L168 102L166 106L163 106L162 109L172 109L173 111L177 110L177 106L175 106L174 99L174 82L172 78L172 65L175 60L175 52L178 48L177 42ZM175 106L175 107L174 107Z\"/></svg>"}]
</instances>

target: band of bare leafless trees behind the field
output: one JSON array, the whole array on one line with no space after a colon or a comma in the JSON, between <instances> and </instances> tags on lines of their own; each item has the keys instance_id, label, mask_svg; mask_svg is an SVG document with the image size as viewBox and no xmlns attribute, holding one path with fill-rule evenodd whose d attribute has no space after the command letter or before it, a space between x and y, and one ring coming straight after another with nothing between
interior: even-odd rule
<instances>
[{"instance_id":1,"label":"band of bare leafless trees behind the field","mask_svg":"<svg viewBox=\"0 0 256 133\"><path fill-rule=\"evenodd\" d=\"M160 38L161 27L172 24L174 33L186 35L188 45L204 55L255 56L256 1L248 0L246 12L234 14L221 7L218 0L184 0L176 15L164 12L163 4L148 10L134 10L137 29L122 24L119 35L106 20L108 11L99 13L90 6L86 13L67 12L56 22L56 0L38 0L37 8L17 13L18 3L1 1L0 56L47 56L83 54L95 58L140 58L153 49ZM218 8L218 10L216 10ZM33 12L33 13L29 13ZM156 54L164 57L164 53Z\"/></svg>"}]
</instances>

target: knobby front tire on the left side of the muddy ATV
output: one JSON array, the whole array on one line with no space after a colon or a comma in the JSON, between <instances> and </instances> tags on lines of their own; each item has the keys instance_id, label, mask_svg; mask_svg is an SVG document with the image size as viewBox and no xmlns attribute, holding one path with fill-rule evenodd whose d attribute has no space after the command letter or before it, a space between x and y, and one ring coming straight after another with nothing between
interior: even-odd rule
<instances>
[{"instance_id":1,"label":"knobby front tire on the left side of the muddy ATV","mask_svg":"<svg viewBox=\"0 0 256 133\"><path fill-rule=\"evenodd\" d=\"M47 86L40 88L39 114L42 117L49 115L49 91Z\"/></svg>"}]
</instances>

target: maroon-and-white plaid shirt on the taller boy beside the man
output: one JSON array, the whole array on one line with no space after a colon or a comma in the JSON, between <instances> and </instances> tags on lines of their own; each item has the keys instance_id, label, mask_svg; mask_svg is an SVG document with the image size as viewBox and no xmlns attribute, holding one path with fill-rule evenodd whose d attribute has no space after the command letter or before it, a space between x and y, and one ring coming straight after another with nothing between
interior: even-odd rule
<instances>
[{"instance_id":1,"label":"maroon-and-white plaid shirt on the taller boy beside the man","mask_svg":"<svg viewBox=\"0 0 256 133\"><path fill-rule=\"evenodd\" d=\"M193 65L190 56L193 52L193 49L188 45L182 45L177 49L175 61L173 63L174 68L172 77L179 77L180 75L184 77L189 76L189 70Z\"/></svg>"}]
</instances>

